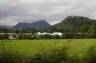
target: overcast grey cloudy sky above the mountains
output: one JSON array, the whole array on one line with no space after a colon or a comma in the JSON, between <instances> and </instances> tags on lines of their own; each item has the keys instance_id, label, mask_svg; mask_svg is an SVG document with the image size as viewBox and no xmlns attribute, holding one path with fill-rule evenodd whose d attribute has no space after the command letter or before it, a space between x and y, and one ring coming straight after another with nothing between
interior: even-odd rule
<instances>
[{"instance_id":1,"label":"overcast grey cloudy sky above the mountains","mask_svg":"<svg viewBox=\"0 0 96 63\"><path fill-rule=\"evenodd\" d=\"M0 0L0 25L46 20L61 22L67 16L96 19L96 0Z\"/></svg>"}]
</instances>

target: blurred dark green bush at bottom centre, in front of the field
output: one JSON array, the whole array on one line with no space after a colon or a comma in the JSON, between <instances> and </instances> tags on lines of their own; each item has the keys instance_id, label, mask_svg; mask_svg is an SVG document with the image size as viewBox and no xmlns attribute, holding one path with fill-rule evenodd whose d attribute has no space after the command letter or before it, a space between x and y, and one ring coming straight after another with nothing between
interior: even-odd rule
<instances>
[{"instance_id":1,"label":"blurred dark green bush at bottom centre, in front of the field","mask_svg":"<svg viewBox=\"0 0 96 63\"><path fill-rule=\"evenodd\" d=\"M30 63L71 63L71 58L66 52L66 48L55 49L48 53L36 54Z\"/></svg>"}]
</instances>

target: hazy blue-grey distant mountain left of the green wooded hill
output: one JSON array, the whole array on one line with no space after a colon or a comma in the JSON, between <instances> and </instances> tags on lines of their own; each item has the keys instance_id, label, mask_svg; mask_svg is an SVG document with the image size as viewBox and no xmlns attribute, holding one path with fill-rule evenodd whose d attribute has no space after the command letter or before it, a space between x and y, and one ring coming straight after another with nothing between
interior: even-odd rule
<instances>
[{"instance_id":1,"label":"hazy blue-grey distant mountain left of the green wooded hill","mask_svg":"<svg viewBox=\"0 0 96 63\"><path fill-rule=\"evenodd\" d=\"M45 20L36 21L33 23L18 23L15 28L17 29L28 29L28 28L36 28L36 29L44 29L51 26Z\"/></svg>"}]
</instances>

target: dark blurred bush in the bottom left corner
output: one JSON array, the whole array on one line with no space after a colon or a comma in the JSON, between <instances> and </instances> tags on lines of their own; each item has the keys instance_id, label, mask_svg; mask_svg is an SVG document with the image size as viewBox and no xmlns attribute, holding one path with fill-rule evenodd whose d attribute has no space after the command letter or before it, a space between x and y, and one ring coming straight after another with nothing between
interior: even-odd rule
<instances>
[{"instance_id":1,"label":"dark blurred bush in the bottom left corner","mask_svg":"<svg viewBox=\"0 0 96 63\"><path fill-rule=\"evenodd\" d=\"M27 56L9 50L0 53L0 63L28 63L28 59Z\"/></svg>"}]
</instances>

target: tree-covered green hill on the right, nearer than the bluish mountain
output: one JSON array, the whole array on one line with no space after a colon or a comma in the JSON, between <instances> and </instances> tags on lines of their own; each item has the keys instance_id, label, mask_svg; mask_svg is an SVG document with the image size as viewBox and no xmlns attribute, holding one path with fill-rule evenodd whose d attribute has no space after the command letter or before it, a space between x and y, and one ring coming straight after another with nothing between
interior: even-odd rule
<instances>
[{"instance_id":1,"label":"tree-covered green hill on the right, nearer than the bluish mountain","mask_svg":"<svg viewBox=\"0 0 96 63\"><path fill-rule=\"evenodd\" d=\"M82 16L68 16L62 22L45 29L45 31L87 33L91 30L96 31L95 24L96 24L96 20L94 19L90 19Z\"/></svg>"}]
</instances>

